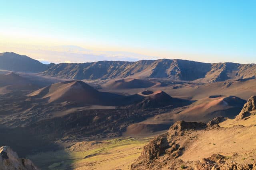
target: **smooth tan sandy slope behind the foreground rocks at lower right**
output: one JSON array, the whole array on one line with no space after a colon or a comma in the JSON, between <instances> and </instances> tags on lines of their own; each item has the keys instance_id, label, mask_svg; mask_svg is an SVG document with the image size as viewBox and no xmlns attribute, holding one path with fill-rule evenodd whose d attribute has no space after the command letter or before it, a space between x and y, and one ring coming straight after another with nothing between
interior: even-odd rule
<instances>
[{"instance_id":1,"label":"smooth tan sandy slope behind the foreground rocks at lower right","mask_svg":"<svg viewBox=\"0 0 256 170\"><path fill-rule=\"evenodd\" d=\"M232 156L238 153L239 156L236 162L244 163L242 158L249 160L256 156L255 132L255 126L238 126L198 132L198 135L196 135L192 144L186 148L180 159L196 161L209 157L212 154Z\"/></svg>"}]
</instances>

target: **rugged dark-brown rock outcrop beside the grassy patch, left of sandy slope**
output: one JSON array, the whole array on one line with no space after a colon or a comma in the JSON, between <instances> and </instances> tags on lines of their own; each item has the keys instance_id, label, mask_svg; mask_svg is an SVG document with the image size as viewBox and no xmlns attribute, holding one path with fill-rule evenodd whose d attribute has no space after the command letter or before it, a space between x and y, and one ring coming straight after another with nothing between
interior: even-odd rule
<instances>
[{"instance_id":1,"label":"rugged dark-brown rock outcrop beside the grassy patch, left of sandy slope","mask_svg":"<svg viewBox=\"0 0 256 170\"><path fill-rule=\"evenodd\" d=\"M179 138L188 131L206 129L206 127L205 123L177 121L170 127L167 133L152 139L144 147L142 154L132 164L131 169L158 169L157 163L155 164L154 162L157 162L158 158L162 155L166 156L165 161L167 162L180 162L181 160L176 158L182 155L184 146L180 143ZM160 163L161 166L165 164L163 163L165 161Z\"/></svg>"}]
</instances>

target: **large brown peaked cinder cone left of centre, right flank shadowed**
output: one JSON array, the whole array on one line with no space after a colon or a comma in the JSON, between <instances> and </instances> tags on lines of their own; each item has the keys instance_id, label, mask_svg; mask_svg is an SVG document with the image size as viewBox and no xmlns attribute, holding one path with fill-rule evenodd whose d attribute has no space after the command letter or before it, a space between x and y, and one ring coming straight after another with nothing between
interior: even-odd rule
<instances>
[{"instance_id":1,"label":"large brown peaked cinder cone left of centre, right flank shadowed","mask_svg":"<svg viewBox=\"0 0 256 170\"><path fill-rule=\"evenodd\" d=\"M44 99L47 100L49 103L70 101L83 105L115 106L118 104L122 104L122 102L126 102L126 100L129 102L129 99L126 98L126 96L107 92L99 92L88 84L76 80L55 83L35 92L32 92L28 96L32 99ZM132 96L130 96L130 98L132 98Z\"/></svg>"}]
</instances>

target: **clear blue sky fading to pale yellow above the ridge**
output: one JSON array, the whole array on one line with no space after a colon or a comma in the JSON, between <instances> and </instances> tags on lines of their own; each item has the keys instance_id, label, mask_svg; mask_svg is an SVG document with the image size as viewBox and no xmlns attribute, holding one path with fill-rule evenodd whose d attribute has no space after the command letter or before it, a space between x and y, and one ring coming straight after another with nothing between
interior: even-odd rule
<instances>
[{"instance_id":1,"label":"clear blue sky fading to pale yellow above the ridge","mask_svg":"<svg viewBox=\"0 0 256 170\"><path fill-rule=\"evenodd\" d=\"M255 0L0 0L0 52L43 63L256 63Z\"/></svg>"}]
</instances>

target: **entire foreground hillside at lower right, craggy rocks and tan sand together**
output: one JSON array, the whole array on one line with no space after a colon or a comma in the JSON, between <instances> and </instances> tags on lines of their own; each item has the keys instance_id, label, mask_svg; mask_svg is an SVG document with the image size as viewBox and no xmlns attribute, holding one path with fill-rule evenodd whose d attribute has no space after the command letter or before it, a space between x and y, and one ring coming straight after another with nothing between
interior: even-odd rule
<instances>
[{"instance_id":1,"label":"entire foreground hillside at lower right, craggy rocks and tan sand together","mask_svg":"<svg viewBox=\"0 0 256 170\"><path fill-rule=\"evenodd\" d=\"M246 106L251 103L249 100ZM255 117L251 115L246 120ZM131 169L253 170L256 126L252 121L248 125L246 120L233 119L237 125L229 127L223 126L229 121L224 119L214 119L208 125L178 121L144 147Z\"/></svg>"}]
</instances>

